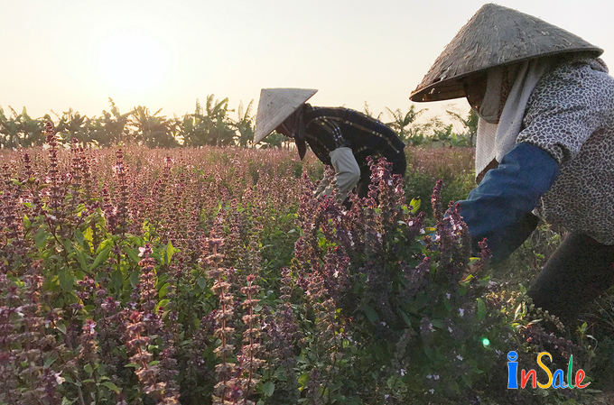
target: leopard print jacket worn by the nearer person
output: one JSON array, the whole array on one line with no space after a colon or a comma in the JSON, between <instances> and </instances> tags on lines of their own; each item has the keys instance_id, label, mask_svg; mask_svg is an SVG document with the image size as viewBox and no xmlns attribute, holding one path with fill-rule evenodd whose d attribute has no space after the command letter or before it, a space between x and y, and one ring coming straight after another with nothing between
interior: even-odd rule
<instances>
[{"instance_id":1,"label":"leopard print jacket worn by the nearer person","mask_svg":"<svg viewBox=\"0 0 614 405\"><path fill-rule=\"evenodd\" d=\"M526 106L517 143L560 164L534 214L614 244L614 78L601 60L579 59L544 74Z\"/></svg>"}]
</instances>

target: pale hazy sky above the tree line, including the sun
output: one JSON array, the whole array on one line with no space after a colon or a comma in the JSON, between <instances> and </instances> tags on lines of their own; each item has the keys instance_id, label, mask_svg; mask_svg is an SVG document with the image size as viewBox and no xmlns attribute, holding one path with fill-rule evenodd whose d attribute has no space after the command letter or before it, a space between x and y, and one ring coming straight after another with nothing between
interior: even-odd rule
<instances>
[{"instance_id":1,"label":"pale hazy sky above the tree line, including the sun","mask_svg":"<svg viewBox=\"0 0 614 405\"><path fill-rule=\"evenodd\" d=\"M91 116L111 97L122 113L141 105L172 117L214 94L231 108L254 99L256 114L261 87L308 87L320 90L313 105L406 111L433 60L484 3L2 0L0 106ZM600 46L614 69L610 0L496 3ZM437 114L449 104L416 107Z\"/></svg>"}]
</instances>

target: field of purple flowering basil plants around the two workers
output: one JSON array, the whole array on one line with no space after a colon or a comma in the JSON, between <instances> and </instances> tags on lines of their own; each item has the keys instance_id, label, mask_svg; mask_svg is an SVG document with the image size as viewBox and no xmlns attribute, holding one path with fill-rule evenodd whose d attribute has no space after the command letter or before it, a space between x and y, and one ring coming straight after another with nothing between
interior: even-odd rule
<instances>
[{"instance_id":1,"label":"field of purple flowering basil plants around the two workers","mask_svg":"<svg viewBox=\"0 0 614 405\"><path fill-rule=\"evenodd\" d=\"M598 403L507 390L510 350L528 370L556 347L591 376L594 347L522 295L543 240L505 283L488 244L470 257L448 206L470 149L409 148L405 179L372 162L345 209L312 198L323 168L294 151L46 133L2 158L0 404Z\"/></svg>"}]
</instances>

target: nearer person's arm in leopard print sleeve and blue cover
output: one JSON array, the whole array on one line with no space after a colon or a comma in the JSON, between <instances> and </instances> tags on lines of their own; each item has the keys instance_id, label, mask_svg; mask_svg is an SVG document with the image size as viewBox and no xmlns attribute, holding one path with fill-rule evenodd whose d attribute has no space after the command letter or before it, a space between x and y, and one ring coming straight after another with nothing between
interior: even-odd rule
<instances>
[{"instance_id":1,"label":"nearer person's arm in leopard print sleeve and blue cover","mask_svg":"<svg viewBox=\"0 0 614 405\"><path fill-rule=\"evenodd\" d=\"M516 147L489 170L460 202L460 214L475 242L488 238L496 260L522 244L535 227L531 211L552 186L559 168L609 123L614 81L596 60L561 65L537 84ZM528 224L528 225L527 225Z\"/></svg>"}]
</instances>

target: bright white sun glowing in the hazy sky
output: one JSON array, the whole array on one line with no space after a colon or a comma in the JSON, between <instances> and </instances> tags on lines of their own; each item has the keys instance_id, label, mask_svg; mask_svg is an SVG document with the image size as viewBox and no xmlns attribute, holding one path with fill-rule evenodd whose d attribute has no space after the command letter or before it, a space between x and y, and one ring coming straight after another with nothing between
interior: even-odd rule
<instances>
[{"instance_id":1,"label":"bright white sun glowing in the hazy sky","mask_svg":"<svg viewBox=\"0 0 614 405\"><path fill-rule=\"evenodd\" d=\"M95 65L107 86L131 94L160 87L170 76L169 52L163 41L143 32L114 32L97 47Z\"/></svg>"}]
</instances>

